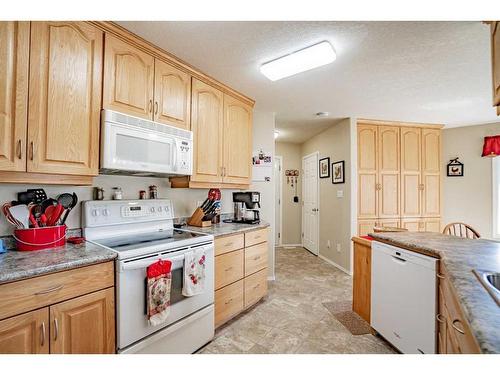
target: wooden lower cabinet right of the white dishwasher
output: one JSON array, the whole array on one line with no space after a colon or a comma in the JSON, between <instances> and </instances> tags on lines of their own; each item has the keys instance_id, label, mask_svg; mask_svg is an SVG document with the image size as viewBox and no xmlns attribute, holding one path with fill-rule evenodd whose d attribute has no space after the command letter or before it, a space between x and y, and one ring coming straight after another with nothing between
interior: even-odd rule
<instances>
[{"instance_id":1,"label":"wooden lower cabinet right of the white dishwasher","mask_svg":"<svg viewBox=\"0 0 500 375\"><path fill-rule=\"evenodd\" d=\"M439 278L438 348L440 354L479 354L481 349L473 336L469 323L442 262Z\"/></svg>"}]
</instances>

